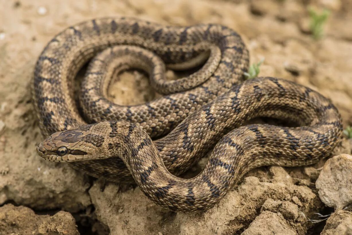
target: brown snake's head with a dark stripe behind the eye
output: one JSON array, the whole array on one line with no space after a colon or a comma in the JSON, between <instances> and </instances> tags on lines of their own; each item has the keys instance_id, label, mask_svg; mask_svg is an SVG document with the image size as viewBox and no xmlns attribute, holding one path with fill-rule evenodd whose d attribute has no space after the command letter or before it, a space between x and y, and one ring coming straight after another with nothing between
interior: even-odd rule
<instances>
[{"instance_id":1,"label":"brown snake's head with a dark stripe behind the eye","mask_svg":"<svg viewBox=\"0 0 352 235\"><path fill-rule=\"evenodd\" d=\"M104 138L82 127L55 132L38 144L37 153L45 160L54 162L74 162L102 159L101 148ZM86 131L85 131L86 130Z\"/></svg>"}]
</instances>

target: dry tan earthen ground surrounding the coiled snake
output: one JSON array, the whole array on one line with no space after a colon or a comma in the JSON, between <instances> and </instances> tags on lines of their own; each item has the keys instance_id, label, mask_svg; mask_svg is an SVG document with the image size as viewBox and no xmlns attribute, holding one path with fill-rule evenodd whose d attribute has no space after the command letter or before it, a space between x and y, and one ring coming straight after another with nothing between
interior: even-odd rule
<instances>
[{"instance_id":1,"label":"dry tan earthen ground surrounding the coiled snake","mask_svg":"<svg viewBox=\"0 0 352 235\"><path fill-rule=\"evenodd\" d=\"M65 164L45 162L35 152L42 137L29 84L45 44L83 20L123 15L165 25L220 23L243 37L251 63L265 58L261 76L285 78L321 92L338 107L346 126L352 124L349 0L0 0L0 5L0 234L319 234L323 230L325 221L314 224L307 219L316 219L314 213L332 212L314 186L317 168L325 161L309 167L255 169L219 205L191 215L159 208L138 188L108 184L102 190L100 180ZM308 5L331 12L319 41L309 33ZM119 104L157 96L143 74L125 73L117 80L109 93ZM351 154L350 145L343 140L334 155ZM205 161L189 174L199 172ZM324 231L344 221L338 218Z\"/></svg>"}]
</instances>

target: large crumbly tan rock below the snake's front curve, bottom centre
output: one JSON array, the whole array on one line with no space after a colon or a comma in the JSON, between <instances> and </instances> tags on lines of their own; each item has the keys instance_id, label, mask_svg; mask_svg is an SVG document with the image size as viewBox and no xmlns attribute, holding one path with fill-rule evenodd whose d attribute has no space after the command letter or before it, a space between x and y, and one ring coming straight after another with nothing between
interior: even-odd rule
<instances>
[{"instance_id":1,"label":"large crumbly tan rock below the snake's front curve, bottom centre","mask_svg":"<svg viewBox=\"0 0 352 235\"><path fill-rule=\"evenodd\" d=\"M258 169L254 170L250 175L258 174L258 171L260 172ZM265 172L271 178L271 174ZM158 232L186 235L237 234L247 228L256 216L258 218L258 211L264 215L259 215L259 222L256 224L266 223L260 218L270 215L273 222L267 229L276 229L275 226L278 226L277 229L293 229L301 231L301 234L306 233L312 224L306 223L306 219L299 216L298 210L309 217L323 204L310 188L293 184L284 168L274 167L271 172L277 180L279 175L284 175L284 183L277 183L272 178L270 183L261 182L255 176L245 177L214 208L194 214L162 209L147 199L139 188L124 191L117 185L108 184L101 192L101 183L96 181L89 194L95 206L96 217L109 227L111 235ZM301 205L297 206L296 202ZM290 227L285 225L288 223Z\"/></svg>"}]
</instances>

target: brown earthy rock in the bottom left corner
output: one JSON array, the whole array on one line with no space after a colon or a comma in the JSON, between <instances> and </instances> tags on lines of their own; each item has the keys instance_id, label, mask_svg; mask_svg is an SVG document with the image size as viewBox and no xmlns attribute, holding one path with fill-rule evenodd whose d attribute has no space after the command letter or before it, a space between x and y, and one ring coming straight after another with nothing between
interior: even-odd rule
<instances>
[{"instance_id":1,"label":"brown earthy rock in the bottom left corner","mask_svg":"<svg viewBox=\"0 0 352 235\"><path fill-rule=\"evenodd\" d=\"M0 234L78 235L75 219L69 212L53 216L36 215L25 206L0 207Z\"/></svg>"}]
</instances>

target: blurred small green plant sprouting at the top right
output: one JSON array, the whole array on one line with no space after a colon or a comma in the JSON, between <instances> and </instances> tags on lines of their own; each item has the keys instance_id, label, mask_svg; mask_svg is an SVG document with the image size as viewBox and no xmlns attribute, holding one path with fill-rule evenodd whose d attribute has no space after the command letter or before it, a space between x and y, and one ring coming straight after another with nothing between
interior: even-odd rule
<instances>
[{"instance_id":1,"label":"blurred small green plant sprouting at the top right","mask_svg":"<svg viewBox=\"0 0 352 235\"><path fill-rule=\"evenodd\" d=\"M324 9L321 13L318 13L313 8L308 9L310 17L310 31L312 31L313 38L318 40L323 36L323 26L329 17L330 12Z\"/></svg>"}]
</instances>

